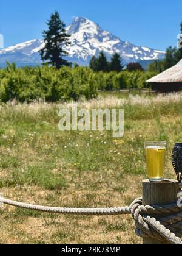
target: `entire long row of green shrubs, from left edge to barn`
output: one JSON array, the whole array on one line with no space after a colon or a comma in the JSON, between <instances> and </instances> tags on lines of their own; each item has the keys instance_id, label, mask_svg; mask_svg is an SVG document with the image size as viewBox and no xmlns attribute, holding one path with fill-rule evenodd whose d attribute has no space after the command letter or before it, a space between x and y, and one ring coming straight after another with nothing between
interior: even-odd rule
<instances>
[{"instance_id":1,"label":"entire long row of green shrubs, from left edge to barn","mask_svg":"<svg viewBox=\"0 0 182 256\"><path fill-rule=\"evenodd\" d=\"M16 68L15 64L7 64L7 68L0 69L0 101L92 99L97 96L98 90L146 87L145 81L154 74L148 71L96 73L84 67L22 69Z\"/></svg>"}]
</instances>

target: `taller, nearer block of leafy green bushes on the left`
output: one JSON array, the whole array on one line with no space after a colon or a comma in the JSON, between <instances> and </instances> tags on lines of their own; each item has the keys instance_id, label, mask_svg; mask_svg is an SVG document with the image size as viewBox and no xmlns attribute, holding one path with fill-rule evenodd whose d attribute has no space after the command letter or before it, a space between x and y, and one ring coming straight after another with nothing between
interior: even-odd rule
<instances>
[{"instance_id":1,"label":"taller, nearer block of leafy green bushes on the left","mask_svg":"<svg viewBox=\"0 0 182 256\"><path fill-rule=\"evenodd\" d=\"M0 101L92 99L97 96L97 85L95 74L89 68L56 69L45 65L21 69L7 63L7 68L0 70Z\"/></svg>"}]
</instances>

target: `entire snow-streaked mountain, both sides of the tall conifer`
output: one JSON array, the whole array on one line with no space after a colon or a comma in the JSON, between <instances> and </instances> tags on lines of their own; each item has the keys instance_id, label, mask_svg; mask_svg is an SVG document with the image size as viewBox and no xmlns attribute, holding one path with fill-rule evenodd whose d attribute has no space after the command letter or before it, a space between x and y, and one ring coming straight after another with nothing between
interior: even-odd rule
<instances>
[{"instance_id":1,"label":"entire snow-streaked mountain, both sides of the tall conifer","mask_svg":"<svg viewBox=\"0 0 182 256\"><path fill-rule=\"evenodd\" d=\"M88 65L91 57L97 56L101 51L108 58L118 52L123 57L124 63L164 59L164 51L122 41L110 32L102 30L98 24L87 18L75 18L66 30L67 34L70 34L71 43L66 48L69 54L67 60L79 65ZM35 39L2 49L0 51L0 66L4 66L6 60L16 62L18 66L37 65L41 63L39 50L43 46L43 40Z\"/></svg>"}]
</instances>

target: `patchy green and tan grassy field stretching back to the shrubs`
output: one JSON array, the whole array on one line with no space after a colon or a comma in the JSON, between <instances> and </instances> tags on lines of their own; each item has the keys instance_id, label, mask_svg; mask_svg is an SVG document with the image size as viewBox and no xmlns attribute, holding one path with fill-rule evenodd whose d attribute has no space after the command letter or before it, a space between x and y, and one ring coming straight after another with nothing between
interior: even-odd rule
<instances>
[{"instance_id":1,"label":"patchy green and tan grassy field stretching back to the shrubs","mask_svg":"<svg viewBox=\"0 0 182 256\"><path fill-rule=\"evenodd\" d=\"M69 103L71 106L76 103ZM111 132L60 132L64 104L0 106L0 191L33 204L117 207L141 196L144 141L167 141L166 177L175 177L170 152L182 139L182 96L107 96L78 107L124 108L123 138ZM131 216L62 216L4 206L0 243L141 243Z\"/></svg>"}]
</instances>

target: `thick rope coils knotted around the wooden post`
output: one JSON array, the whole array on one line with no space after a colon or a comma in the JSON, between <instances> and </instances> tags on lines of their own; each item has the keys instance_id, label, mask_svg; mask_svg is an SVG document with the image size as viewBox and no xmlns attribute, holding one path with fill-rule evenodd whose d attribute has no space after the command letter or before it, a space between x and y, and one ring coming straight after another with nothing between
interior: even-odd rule
<instances>
[{"instance_id":1,"label":"thick rope coils knotted around the wooden post","mask_svg":"<svg viewBox=\"0 0 182 256\"><path fill-rule=\"evenodd\" d=\"M136 235L182 244L182 208L177 204L144 206L140 197L132 202L130 211L135 220Z\"/></svg>"}]
</instances>

